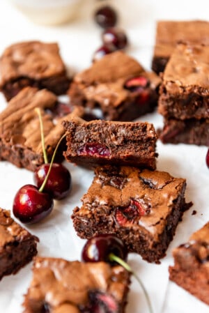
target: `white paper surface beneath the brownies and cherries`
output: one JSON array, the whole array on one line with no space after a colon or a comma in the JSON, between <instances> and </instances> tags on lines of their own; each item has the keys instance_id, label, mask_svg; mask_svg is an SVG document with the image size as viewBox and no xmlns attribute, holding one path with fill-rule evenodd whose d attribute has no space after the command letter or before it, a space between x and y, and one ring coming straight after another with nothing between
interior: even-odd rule
<instances>
[{"instance_id":1,"label":"white paper surface beneath the brownies and cherries","mask_svg":"<svg viewBox=\"0 0 209 313\"><path fill-rule=\"evenodd\" d=\"M22 40L56 41L61 47L63 60L70 68L82 70L91 64L95 49L100 47L102 30L93 22L95 3L104 1L83 0L79 18L63 26L40 26L33 24L18 12L9 1L0 1L0 54L8 45ZM121 19L118 26L127 32L130 47L127 52L136 57L146 68L150 60L155 41L156 20L207 20L208 0L120 0L112 1ZM209 34L208 34L209 36ZM118 64L120 66L120 64ZM6 106L0 98L0 111ZM157 113L143 116L141 120L154 123L156 128L162 125ZM169 171L176 177L187 178L187 201L194 206L183 216L176 229L176 236L169 246L167 257L160 265L148 264L139 255L130 254L129 263L137 271L150 295L155 313L206 313L208 306L189 293L169 282L168 266L173 264L171 250L187 241L193 231L203 226L209 219L208 183L209 169L206 167L204 146L157 144L159 158L157 169ZM39 224L27 227L40 238L38 254L42 257L63 257L69 260L80 259L84 240L77 237L72 227L70 215L79 199L88 189L93 172L73 165L66 165L72 174L72 192L70 196L55 203L54 211ZM26 183L33 183L33 174L25 169L17 169L8 162L0 162L0 206L12 209L13 198L17 190ZM196 215L192 211L196 210ZM31 264L17 275L4 277L0 282L0 312L21 313L23 294L31 280ZM126 312L147 313L148 308L137 282L132 278ZM70 312L69 312L70 313Z\"/></svg>"}]
</instances>

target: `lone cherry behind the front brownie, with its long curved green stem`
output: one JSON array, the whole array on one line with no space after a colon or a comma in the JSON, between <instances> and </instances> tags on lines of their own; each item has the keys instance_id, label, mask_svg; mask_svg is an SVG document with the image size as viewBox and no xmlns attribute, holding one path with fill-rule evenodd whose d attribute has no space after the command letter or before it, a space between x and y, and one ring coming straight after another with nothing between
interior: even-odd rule
<instances>
[{"instance_id":1,"label":"lone cherry behind the front brownie, with its long curved green stem","mask_svg":"<svg viewBox=\"0 0 209 313\"><path fill-rule=\"evenodd\" d=\"M132 268L126 263L126 259L127 249L123 244L123 241L121 241L121 239L116 237L114 234L100 234L98 236L93 236L92 238L88 239L88 241L86 241L86 244L84 245L82 250L82 261L84 262L104 261L110 264L116 263L120 264L128 272L132 273L137 282L139 282L141 289L144 291L150 313L153 313L150 298L144 287L144 284L143 282L141 282L137 274L134 273ZM100 307L98 307L98 309L100 309ZM100 310L92 310L91 312L99 313Z\"/></svg>"}]
</instances>

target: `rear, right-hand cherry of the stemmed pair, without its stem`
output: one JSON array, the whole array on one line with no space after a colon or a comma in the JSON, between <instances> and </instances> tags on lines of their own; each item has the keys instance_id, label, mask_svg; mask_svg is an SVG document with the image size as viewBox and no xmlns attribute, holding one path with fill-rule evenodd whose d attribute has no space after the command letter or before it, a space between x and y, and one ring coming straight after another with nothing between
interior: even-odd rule
<instances>
[{"instance_id":1,"label":"rear, right-hand cherry of the stemmed pair, without its stem","mask_svg":"<svg viewBox=\"0 0 209 313\"><path fill-rule=\"evenodd\" d=\"M40 165L36 171L34 171L34 181L38 188L41 187L47 172L49 171L49 163ZM66 167L59 163L53 163L50 171L47 183L43 192L47 192L53 199L61 200L65 198L71 189L71 176Z\"/></svg>"}]
</instances>

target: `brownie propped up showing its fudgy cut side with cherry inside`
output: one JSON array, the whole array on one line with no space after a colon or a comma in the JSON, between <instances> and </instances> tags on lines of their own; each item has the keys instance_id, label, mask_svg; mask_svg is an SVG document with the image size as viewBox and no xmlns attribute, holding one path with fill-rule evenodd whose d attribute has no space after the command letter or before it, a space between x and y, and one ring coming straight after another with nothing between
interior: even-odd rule
<instances>
[{"instance_id":1,"label":"brownie propped up showing its fudgy cut side with cherry inside","mask_svg":"<svg viewBox=\"0 0 209 313\"><path fill-rule=\"evenodd\" d=\"M155 169L157 135L146 122L63 121L68 134L65 159L95 167L102 164L134 165Z\"/></svg>"}]
</instances>

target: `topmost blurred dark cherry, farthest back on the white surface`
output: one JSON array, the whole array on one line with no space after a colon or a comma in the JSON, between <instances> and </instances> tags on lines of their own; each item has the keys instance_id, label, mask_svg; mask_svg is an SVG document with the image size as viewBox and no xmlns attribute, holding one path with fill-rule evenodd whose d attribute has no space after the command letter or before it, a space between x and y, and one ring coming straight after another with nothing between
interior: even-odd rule
<instances>
[{"instance_id":1,"label":"topmost blurred dark cherry, farthest back on the white surface","mask_svg":"<svg viewBox=\"0 0 209 313\"><path fill-rule=\"evenodd\" d=\"M103 29L107 29L116 25L118 17L114 8L102 6L95 12L94 20Z\"/></svg>"}]
</instances>

